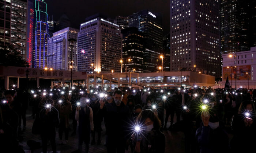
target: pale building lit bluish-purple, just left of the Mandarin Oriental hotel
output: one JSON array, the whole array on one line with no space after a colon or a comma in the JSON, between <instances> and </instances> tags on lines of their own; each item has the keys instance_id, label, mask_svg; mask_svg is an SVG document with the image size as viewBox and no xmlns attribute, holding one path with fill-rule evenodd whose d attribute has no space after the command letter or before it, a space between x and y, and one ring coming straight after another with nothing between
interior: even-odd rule
<instances>
[{"instance_id":1,"label":"pale building lit bluish-purple, just left of the Mandarin Oriental hotel","mask_svg":"<svg viewBox=\"0 0 256 153\"><path fill-rule=\"evenodd\" d=\"M71 59L71 44L68 39L77 40L79 30L67 27L53 33L53 37L48 41L47 66L53 69L71 70L73 61L73 71L77 71L77 42L73 44L73 56Z\"/></svg>"}]
</instances>

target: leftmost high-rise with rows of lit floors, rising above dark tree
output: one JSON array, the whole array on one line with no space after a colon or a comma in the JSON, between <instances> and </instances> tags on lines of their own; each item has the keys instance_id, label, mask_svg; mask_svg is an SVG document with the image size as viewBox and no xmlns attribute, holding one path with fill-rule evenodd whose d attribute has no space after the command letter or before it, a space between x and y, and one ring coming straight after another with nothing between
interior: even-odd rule
<instances>
[{"instance_id":1,"label":"leftmost high-rise with rows of lit floors, rising above dark tree","mask_svg":"<svg viewBox=\"0 0 256 153\"><path fill-rule=\"evenodd\" d=\"M11 45L26 59L27 0L0 1L0 45Z\"/></svg>"}]
</instances>

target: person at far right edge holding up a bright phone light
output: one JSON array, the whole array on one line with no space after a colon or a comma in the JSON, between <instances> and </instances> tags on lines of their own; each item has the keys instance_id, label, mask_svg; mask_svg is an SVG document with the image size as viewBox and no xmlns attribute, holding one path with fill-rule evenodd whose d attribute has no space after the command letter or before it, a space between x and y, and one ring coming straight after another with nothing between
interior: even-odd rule
<instances>
[{"instance_id":1,"label":"person at far right edge holding up a bright phone light","mask_svg":"<svg viewBox=\"0 0 256 153\"><path fill-rule=\"evenodd\" d=\"M233 152L251 152L251 146L256 144L255 115L255 106L252 101L241 103L238 114L234 115L231 124L234 137L230 146Z\"/></svg>"}]
</instances>

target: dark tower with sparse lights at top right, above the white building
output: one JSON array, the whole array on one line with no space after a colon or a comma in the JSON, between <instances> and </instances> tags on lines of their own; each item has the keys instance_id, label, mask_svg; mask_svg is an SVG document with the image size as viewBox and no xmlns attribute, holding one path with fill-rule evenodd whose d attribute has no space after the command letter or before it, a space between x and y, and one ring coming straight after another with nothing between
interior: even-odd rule
<instances>
[{"instance_id":1,"label":"dark tower with sparse lights at top right, above the white building","mask_svg":"<svg viewBox=\"0 0 256 153\"><path fill-rule=\"evenodd\" d=\"M249 50L249 1L221 0L222 53Z\"/></svg>"}]
</instances>

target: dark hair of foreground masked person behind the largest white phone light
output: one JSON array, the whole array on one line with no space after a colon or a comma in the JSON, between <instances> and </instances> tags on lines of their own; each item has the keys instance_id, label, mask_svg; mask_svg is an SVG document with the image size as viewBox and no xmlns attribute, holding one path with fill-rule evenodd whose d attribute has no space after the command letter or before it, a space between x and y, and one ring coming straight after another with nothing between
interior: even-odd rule
<instances>
[{"instance_id":1,"label":"dark hair of foreground masked person behind the largest white phone light","mask_svg":"<svg viewBox=\"0 0 256 153\"><path fill-rule=\"evenodd\" d=\"M138 118L137 118L137 122L139 122L138 124L143 124L146 121L147 118L150 118L152 122L154 122L153 126L155 130L159 130L161 127L161 121L158 118L157 114L154 113L154 111L150 110L150 109L146 109L143 110Z\"/></svg>"}]
</instances>

